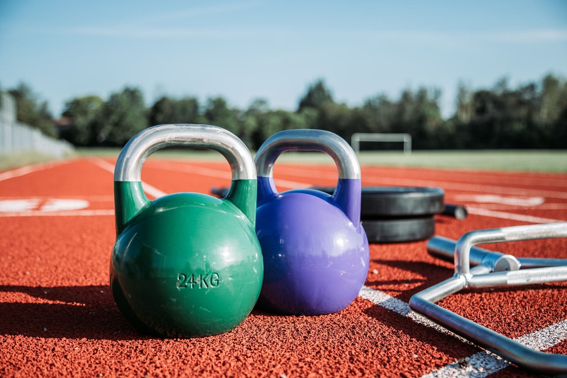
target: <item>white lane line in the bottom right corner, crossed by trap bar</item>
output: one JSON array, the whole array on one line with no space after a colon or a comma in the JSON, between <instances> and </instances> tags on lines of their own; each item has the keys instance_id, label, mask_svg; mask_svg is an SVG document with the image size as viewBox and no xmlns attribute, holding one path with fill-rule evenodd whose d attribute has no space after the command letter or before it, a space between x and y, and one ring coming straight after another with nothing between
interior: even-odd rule
<instances>
[{"instance_id":1,"label":"white lane line in the bottom right corner, crossed by trap bar","mask_svg":"<svg viewBox=\"0 0 567 378\"><path fill-rule=\"evenodd\" d=\"M565 339L567 339L567 320L528 333L514 340L531 349L545 350L557 345ZM510 363L499 356L489 351L481 351L432 371L421 378L483 378L508 366L510 366Z\"/></svg>"}]
</instances>

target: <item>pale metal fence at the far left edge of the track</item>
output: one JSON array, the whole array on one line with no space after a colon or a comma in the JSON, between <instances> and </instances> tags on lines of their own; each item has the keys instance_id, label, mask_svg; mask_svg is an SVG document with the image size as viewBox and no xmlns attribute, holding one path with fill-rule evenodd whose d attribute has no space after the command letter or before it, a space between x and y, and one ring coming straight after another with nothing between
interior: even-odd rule
<instances>
[{"instance_id":1,"label":"pale metal fence at the far left edge of the track","mask_svg":"<svg viewBox=\"0 0 567 378\"><path fill-rule=\"evenodd\" d=\"M16 120L16 101L0 92L0 155L35 151L61 158L74 150L73 145L48 137L40 130Z\"/></svg>"}]
</instances>

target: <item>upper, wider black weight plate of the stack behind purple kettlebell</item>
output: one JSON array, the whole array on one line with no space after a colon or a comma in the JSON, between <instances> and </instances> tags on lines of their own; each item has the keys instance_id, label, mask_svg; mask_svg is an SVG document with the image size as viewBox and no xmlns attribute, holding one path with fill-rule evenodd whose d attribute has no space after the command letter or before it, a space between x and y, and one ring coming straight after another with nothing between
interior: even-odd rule
<instances>
[{"instance_id":1,"label":"upper, wider black weight plate of the stack behind purple kettlebell","mask_svg":"<svg viewBox=\"0 0 567 378\"><path fill-rule=\"evenodd\" d=\"M333 194L332 186L315 188ZM421 216L442 213L445 192L441 188L362 186L361 216Z\"/></svg>"}]
</instances>

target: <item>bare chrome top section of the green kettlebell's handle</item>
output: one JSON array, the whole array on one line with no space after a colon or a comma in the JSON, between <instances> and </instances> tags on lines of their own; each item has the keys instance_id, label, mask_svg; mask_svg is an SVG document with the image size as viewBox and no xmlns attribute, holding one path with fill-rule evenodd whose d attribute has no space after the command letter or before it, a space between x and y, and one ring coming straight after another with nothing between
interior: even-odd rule
<instances>
[{"instance_id":1,"label":"bare chrome top section of the green kettlebell's handle","mask_svg":"<svg viewBox=\"0 0 567 378\"><path fill-rule=\"evenodd\" d=\"M230 164L232 180L255 180L252 155L229 130L211 125L158 125L136 134L122 148L114 181L141 181L142 164L155 151L166 147L209 148L220 152Z\"/></svg>"}]
</instances>

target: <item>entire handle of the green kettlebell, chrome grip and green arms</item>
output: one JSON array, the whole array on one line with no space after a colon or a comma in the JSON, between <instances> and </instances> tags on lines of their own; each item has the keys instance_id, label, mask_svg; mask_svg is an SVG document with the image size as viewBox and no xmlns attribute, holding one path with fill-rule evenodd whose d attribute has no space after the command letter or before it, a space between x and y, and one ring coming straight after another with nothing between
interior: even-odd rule
<instances>
[{"instance_id":1,"label":"entire handle of the green kettlebell, chrome grip and green arms","mask_svg":"<svg viewBox=\"0 0 567 378\"><path fill-rule=\"evenodd\" d=\"M256 167L250 151L230 131L210 125L159 125L134 135L120 152L114 169L116 232L150 206L142 189L142 165L155 151L166 147L209 148L225 156L232 171L229 194L224 198L256 224Z\"/></svg>"}]
</instances>

